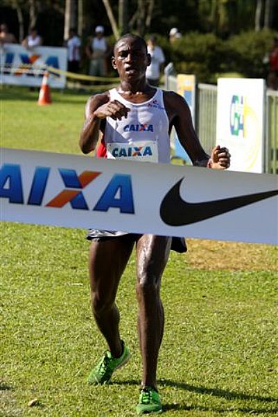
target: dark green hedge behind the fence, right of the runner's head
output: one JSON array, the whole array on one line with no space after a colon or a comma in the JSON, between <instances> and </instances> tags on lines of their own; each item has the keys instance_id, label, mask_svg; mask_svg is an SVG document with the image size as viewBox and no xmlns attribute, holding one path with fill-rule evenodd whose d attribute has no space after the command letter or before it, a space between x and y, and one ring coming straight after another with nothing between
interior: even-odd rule
<instances>
[{"instance_id":1,"label":"dark green hedge behind the fence, right of the runner's head","mask_svg":"<svg viewBox=\"0 0 278 417\"><path fill-rule=\"evenodd\" d=\"M170 44L158 36L166 63L173 62L177 73L196 74L199 82L216 83L218 74L236 72L246 77L265 77L264 60L275 33L245 32L222 40L213 33L187 33Z\"/></svg>"}]
</instances>

